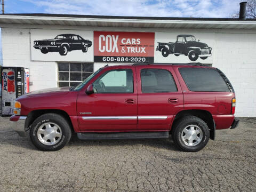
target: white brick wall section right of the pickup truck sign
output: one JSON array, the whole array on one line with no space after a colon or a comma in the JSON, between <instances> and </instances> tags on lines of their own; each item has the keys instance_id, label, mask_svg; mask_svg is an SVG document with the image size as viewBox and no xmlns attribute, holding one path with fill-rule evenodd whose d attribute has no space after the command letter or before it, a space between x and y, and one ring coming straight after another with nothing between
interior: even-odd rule
<instances>
[{"instance_id":1,"label":"white brick wall section right of the pickup truck sign","mask_svg":"<svg viewBox=\"0 0 256 192\"><path fill-rule=\"evenodd\" d=\"M255 34L215 34L213 67L225 73L236 93L236 116L256 116Z\"/></svg>"}]
</instances>

